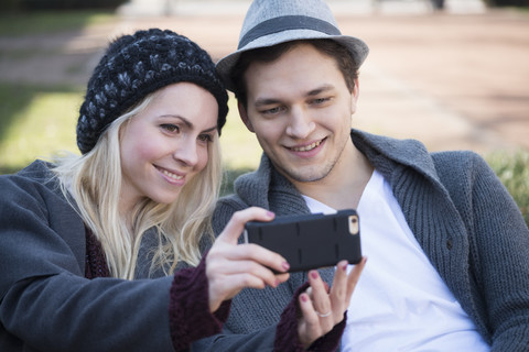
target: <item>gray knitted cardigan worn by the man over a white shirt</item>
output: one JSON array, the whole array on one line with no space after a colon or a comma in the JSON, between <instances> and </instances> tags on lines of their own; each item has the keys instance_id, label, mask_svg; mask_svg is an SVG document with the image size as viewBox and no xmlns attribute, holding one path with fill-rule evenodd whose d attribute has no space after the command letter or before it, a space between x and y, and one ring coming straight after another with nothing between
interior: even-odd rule
<instances>
[{"instance_id":1,"label":"gray knitted cardigan worn by the man over a white shirt","mask_svg":"<svg viewBox=\"0 0 529 352\"><path fill-rule=\"evenodd\" d=\"M391 185L424 253L492 350L529 351L529 231L494 172L472 152L430 154L412 140L350 135ZM218 202L216 231L249 206L278 216L309 212L264 155L258 170L236 180L235 191ZM332 282L333 270L321 273ZM293 274L277 289L245 289L224 334L198 341L197 350L271 351L279 315L305 275Z\"/></svg>"}]
</instances>

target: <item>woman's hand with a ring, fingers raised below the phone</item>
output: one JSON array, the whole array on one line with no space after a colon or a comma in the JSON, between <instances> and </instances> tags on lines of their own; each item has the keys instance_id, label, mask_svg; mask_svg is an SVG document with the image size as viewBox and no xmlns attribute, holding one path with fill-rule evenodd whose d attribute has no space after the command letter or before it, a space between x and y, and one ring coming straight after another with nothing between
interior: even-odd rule
<instances>
[{"instance_id":1,"label":"woman's hand with a ring, fingers raised below the phone","mask_svg":"<svg viewBox=\"0 0 529 352\"><path fill-rule=\"evenodd\" d=\"M366 265L366 257L363 257L349 275L347 275L347 261L339 262L336 265L331 290L328 290L328 285L322 280L317 271L309 272L311 286L300 295L299 304L302 317L298 322L298 336L305 348L330 332L334 326L344 319L344 314L349 306L350 296Z\"/></svg>"}]
</instances>

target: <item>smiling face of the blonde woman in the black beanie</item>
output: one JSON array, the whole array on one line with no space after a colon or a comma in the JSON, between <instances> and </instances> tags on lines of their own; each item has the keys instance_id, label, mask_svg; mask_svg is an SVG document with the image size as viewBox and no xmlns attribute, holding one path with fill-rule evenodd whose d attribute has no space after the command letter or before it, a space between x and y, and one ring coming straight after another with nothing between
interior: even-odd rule
<instances>
[{"instance_id":1,"label":"smiling face of the blonde woman in the black beanie","mask_svg":"<svg viewBox=\"0 0 529 352\"><path fill-rule=\"evenodd\" d=\"M206 89L177 82L160 89L120 131L123 184L120 209L147 197L171 204L207 164L218 106Z\"/></svg>"}]
</instances>

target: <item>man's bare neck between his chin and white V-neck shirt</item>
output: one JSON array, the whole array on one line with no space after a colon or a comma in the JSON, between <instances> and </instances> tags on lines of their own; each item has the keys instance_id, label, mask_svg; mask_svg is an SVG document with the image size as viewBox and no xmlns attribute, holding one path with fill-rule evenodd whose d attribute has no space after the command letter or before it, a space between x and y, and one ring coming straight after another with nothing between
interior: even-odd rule
<instances>
[{"instance_id":1,"label":"man's bare neck between his chin and white V-neck shirt","mask_svg":"<svg viewBox=\"0 0 529 352\"><path fill-rule=\"evenodd\" d=\"M356 209L374 167L355 146L331 173L313 183L293 182L298 190L334 209Z\"/></svg>"}]
</instances>

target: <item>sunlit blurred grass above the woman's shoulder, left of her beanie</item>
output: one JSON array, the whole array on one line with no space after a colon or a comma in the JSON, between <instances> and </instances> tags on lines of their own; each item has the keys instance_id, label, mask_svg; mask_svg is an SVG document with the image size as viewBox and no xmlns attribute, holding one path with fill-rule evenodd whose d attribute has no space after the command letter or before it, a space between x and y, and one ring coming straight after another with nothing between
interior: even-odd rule
<instances>
[{"instance_id":1,"label":"sunlit blurred grass above the woman's shoulder, left of her beanie","mask_svg":"<svg viewBox=\"0 0 529 352\"><path fill-rule=\"evenodd\" d=\"M75 152L80 99L67 87L0 84L0 172L15 172L62 150Z\"/></svg>"}]
</instances>

